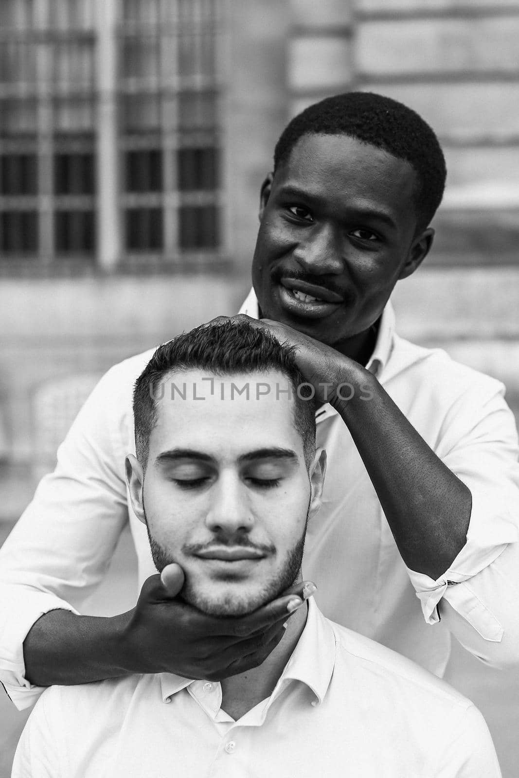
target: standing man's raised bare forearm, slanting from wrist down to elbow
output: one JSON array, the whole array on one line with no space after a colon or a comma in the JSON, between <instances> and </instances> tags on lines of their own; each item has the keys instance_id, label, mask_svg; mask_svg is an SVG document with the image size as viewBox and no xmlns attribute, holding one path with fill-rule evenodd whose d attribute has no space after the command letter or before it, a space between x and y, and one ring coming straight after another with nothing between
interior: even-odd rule
<instances>
[{"instance_id":1,"label":"standing man's raised bare forearm, slanting from wrist down to elbow","mask_svg":"<svg viewBox=\"0 0 519 778\"><path fill-rule=\"evenodd\" d=\"M352 365L342 381L355 392L350 400L338 398L333 405L359 450L402 559L410 569L437 580L465 545L471 492L376 378ZM364 387L370 388L369 394Z\"/></svg>"}]
</instances>

